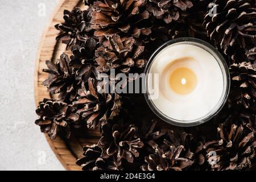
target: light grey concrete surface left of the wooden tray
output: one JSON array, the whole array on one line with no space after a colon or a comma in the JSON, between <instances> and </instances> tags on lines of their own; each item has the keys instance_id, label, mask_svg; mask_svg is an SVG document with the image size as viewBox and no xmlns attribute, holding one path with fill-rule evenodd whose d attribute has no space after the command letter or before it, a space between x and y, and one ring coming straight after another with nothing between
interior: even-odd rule
<instances>
[{"instance_id":1,"label":"light grey concrete surface left of the wooden tray","mask_svg":"<svg viewBox=\"0 0 256 182\"><path fill-rule=\"evenodd\" d=\"M57 2L1 0L0 170L64 169L34 125L36 50Z\"/></svg>"}]
</instances>

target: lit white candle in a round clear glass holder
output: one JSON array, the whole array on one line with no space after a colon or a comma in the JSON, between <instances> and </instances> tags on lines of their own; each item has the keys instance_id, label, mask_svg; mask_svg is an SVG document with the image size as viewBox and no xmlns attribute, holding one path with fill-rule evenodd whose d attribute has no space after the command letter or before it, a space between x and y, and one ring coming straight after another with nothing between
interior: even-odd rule
<instances>
[{"instance_id":1,"label":"lit white candle in a round clear glass holder","mask_svg":"<svg viewBox=\"0 0 256 182\"><path fill-rule=\"evenodd\" d=\"M179 38L164 43L152 53L144 73L147 104L172 125L205 123L228 98L228 65L221 53L203 40Z\"/></svg>"}]
</instances>

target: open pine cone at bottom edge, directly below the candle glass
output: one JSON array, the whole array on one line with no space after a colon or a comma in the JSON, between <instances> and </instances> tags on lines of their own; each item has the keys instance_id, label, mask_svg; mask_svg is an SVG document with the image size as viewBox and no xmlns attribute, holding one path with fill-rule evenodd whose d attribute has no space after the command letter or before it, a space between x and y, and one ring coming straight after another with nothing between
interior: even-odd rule
<instances>
[{"instance_id":1,"label":"open pine cone at bottom edge, directly below the candle glass","mask_svg":"<svg viewBox=\"0 0 256 182\"><path fill-rule=\"evenodd\" d=\"M160 147L155 148L155 153L145 157L147 164L141 168L143 171L182 171L193 164L193 161L183 156L184 146L175 147L164 140L170 148L167 152Z\"/></svg>"}]
</instances>

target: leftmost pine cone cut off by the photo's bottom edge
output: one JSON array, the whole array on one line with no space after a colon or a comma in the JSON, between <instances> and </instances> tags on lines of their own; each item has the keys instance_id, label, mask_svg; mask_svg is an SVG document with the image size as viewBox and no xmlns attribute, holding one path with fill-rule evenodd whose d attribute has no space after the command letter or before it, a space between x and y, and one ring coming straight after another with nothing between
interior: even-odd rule
<instances>
[{"instance_id":1,"label":"leftmost pine cone cut off by the photo's bottom edge","mask_svg":"<svg viewBox=\"0 0 256 182\"><path fill-rule=\"evenodd\" d=\"M101 158L101 148L96 144L84 147L84 157L78 159L76 164L84 171L117 171L121 167L114 166L110 159Z\"/></svg>"}]
</instances>

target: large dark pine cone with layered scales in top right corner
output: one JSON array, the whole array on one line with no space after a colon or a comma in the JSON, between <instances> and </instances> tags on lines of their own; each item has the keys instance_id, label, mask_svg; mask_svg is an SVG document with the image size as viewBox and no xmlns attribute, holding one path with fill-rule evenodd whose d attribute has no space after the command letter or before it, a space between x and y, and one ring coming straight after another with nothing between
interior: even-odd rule
<instances>
[{"instance_id":1,"label":"large dark pine cone with layered scales in top right corner","mask_svg":"<svg viewBox=\"0 0 256 182\"><path fill-rule=\"evenodd\" d=\"M214 0L209 7L204 26L210 39L232 60L248 59L245 52L256 44L256 10L250 0Z\"/></svg>"}]
</instances>

